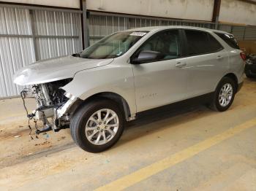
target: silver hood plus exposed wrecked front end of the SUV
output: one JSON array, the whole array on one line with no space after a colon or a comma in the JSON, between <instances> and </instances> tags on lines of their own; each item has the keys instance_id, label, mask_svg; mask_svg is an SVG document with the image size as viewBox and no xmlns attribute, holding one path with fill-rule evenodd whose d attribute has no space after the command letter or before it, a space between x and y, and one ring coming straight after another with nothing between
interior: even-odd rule
<instances>
[{"instance_id":1,"label":"silver hood plus exposed wrecked front end of the SUV","mask_svg":"<svg viewBox=\"0 0 256 191\"><path fill-rule=\"evenodd\" d=\"M13 82L29 87L21 92L23 101L31 96L37 100L37 109L28 114L30 120L42 120L45 125L43 130L37 132L49 129L57 131L69 125L69 118L81 100L76 98L77 95L74 97L70 94L73 91L66 93L64 87L79 71L105 66L112 61L113 58L102 60L67 55L37 61L16 71ZM37 124L35 126L37 128Z\"/></svg>"}]
</instances>

